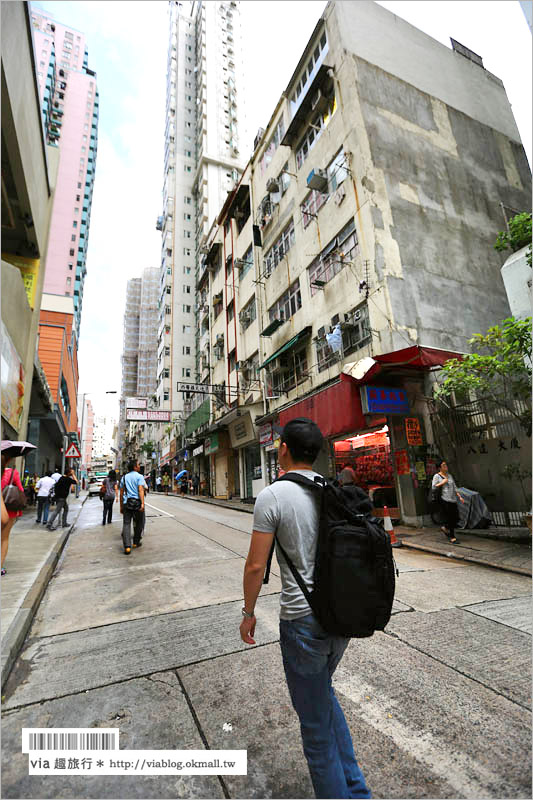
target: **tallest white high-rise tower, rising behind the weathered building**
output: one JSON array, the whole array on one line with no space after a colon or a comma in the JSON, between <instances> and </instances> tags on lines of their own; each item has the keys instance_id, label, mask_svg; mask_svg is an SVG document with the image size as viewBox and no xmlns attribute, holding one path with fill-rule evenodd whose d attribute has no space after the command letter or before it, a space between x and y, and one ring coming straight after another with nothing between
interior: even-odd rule
<instances>
[{"instance_id":1,"label":"tallest white high-rise tower, rising behind the weathered building","mask_svg":"<svg viewBox=\"0 0 533 800\"><path fill-rule=\"evenodd\" d=\"M169 4L157 405L179 413L177 381L198 370L196 280L209 227L242 174L237 2ZM186 406L186 410L190 410Z\"/></svg>"}]
</instances>

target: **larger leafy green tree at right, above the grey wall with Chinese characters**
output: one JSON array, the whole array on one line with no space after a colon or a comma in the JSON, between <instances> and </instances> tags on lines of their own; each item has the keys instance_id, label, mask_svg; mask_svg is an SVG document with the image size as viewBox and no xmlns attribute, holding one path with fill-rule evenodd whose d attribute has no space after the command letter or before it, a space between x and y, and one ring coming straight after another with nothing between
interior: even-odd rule
<instances>
[{"instance_id":1,"label":"larger leafy green tree at right, above the grey wall with Chinese characters","mask_svg":"<svg viewBox=\"0 0 533 800\"><path fill-rule=\"evenodd\" d=\"M475 392L477 397L503 406L531 434L531 317L505 319L487 333L476 333L470 344L477 352L447 361L435 389L443 399L452 392ZM526 405L518 411L516 400Z\"/></svg>"}]
</instances>

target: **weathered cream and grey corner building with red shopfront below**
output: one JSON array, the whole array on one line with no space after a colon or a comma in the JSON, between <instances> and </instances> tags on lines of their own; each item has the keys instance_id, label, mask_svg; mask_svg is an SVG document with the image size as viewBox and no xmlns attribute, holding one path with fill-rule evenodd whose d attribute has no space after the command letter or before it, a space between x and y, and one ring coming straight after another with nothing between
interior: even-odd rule
<instances>
[{"instance_id":1,"label":"weathered cream and grey corner building with red shopfront below","mask_svg":"<svg viewBox=\"0 0 533 800\"><path fill-rule=\"evenodd\" d=\"M429 374L509 315L493 243L501 204L530 195L479 56L377 4L329 3L207 240L196 380L211 388L182 465L251 499L276 476L272 423L305 415L324 474L349 463L420 521Z\"/></svg>"}]
</instances>

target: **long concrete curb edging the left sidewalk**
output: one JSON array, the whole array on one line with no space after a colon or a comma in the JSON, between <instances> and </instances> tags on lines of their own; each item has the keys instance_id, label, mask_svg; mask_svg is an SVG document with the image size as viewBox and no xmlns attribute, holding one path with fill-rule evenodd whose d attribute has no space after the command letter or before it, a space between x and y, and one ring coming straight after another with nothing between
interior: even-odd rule
<instances>
[{"instance_id":1,"label":"long concrete curb edging the left sidewalk","mask_svg":"<svg viewBox=\"0 0 533 800\"><path fill-rule=\"evenodd\" d=\"M17 660L18 654L22 649L24 640L26 639L26 634L30 629L30 625L33 622L33 618L35 617L37 609L41 604L43 595L48 587L48 584L50 583L52 575L54 574L57 562L61 557L70 534L74 530L74 526L78 521L87 497L88 495L83 499L83 502L79 507L78 515L74 522L69 525L69 527L61 534L61 538L55 543L52 552L49 554L45 563L39 570L39 574L35 579L33 586L28 590L22 606L15 614L15 618L7 629L5 636L2 638L2 691L7 679L9 678L11 670L13 669L13 665Z\"/></svg>"}]
</instances>

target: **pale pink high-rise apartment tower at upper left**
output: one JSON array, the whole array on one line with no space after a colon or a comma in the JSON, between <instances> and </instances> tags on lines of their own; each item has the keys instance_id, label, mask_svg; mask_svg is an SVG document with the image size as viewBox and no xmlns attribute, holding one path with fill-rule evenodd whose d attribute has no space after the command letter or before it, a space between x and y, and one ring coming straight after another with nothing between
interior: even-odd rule
<instances>
[{"instance_id":1,"label":"pale pink high-rise apartment tower at upper left","mask_svg":"<svg viewBox=\"0 0 533 800\"><path fill-rule=\"evenodd\" d=\"M60 150L44 291L74 303L79 339L98 145L98 89L85 35L32 10L37 81L46 141Z\"/></svg>"}]
</instances>

